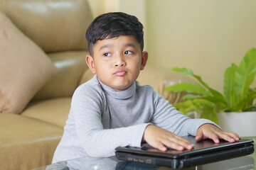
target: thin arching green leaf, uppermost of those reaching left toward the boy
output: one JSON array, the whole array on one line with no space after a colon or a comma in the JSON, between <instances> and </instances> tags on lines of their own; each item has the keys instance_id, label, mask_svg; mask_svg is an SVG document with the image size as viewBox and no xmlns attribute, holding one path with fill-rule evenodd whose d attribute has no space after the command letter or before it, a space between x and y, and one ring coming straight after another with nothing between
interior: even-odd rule
<instances>
[{"instance_id":1,"label":"thin arching green leaf, uppermost of those reaching left toward the boy","mask_svg":"<svg viewBox=\"0 0 256 170\"><path fill-rule=\"evenodd\" d=\"M222 94L220 94L218 91L215 91L214 89L211 89L208 84L206 84L202 79L201 77L199 77L198 75L196 74L193 74L192 70L191 69L186 69L186 68L178 68L178 67L174 67L173 68L173 71L174 72L180 72L182 74L186 74L186 75L191 75L192 77L195 77L201 84L203 84L203 86L206 87L206 89L208 89L210 91L211 94L213 94L213 96L215 98L217 98L219 101L222 101L223 103L225 103L225 98Z\"/></svg>"}]
</instances>

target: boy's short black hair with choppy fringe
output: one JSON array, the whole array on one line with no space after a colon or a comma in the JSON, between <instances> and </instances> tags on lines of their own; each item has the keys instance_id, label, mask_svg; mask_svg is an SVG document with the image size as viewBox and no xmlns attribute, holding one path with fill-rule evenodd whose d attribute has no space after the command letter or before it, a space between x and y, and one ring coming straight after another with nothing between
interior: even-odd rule
<instances>
[{"instance_id":1,"label":"boy's short black hair with choppy fringe","mask_svg":"<svg viewBox=\"0 0 256 170\"><path fill-rule=\"evenodd\" d=\"M93 56L92 47L96 44L97 40L115 38L119 35L133 35L143 51L144 33L142 23L139 22L136 16L114 12L97 16L87 28L86 39L90 55Z\"/></svg>"}]
</instances>

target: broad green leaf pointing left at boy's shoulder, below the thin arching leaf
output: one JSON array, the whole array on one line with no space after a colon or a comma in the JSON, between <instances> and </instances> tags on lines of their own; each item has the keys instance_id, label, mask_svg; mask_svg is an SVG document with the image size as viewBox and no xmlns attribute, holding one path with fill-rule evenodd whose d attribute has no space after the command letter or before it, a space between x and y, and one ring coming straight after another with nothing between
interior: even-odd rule
<instances>
[{"instance_id":1,"label":"broad green leaf pointing left at boy's shoulder, below the thin arching leaf","mask_svg":"<svg viewBox=\"0 0 256 170\"><path fill-rule=\"evenodd\" d=\"M210 93L203 86L199 84L191 83L179 83L164 89L165 91L174 91L176 93L186 91L187 93L201 94L203 96L209 96Z\"/></svg>"}]
</instances>

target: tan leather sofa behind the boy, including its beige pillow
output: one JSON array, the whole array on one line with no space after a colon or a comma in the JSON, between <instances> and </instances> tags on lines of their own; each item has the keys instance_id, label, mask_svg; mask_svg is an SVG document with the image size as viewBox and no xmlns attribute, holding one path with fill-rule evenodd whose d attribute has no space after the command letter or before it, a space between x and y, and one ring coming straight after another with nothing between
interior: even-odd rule
<instances>
[{"instance_id":1,"label":"tan leather sofa behind the boy, including its beige pillow","mask_svg":"<svg viewBox=\"0 0 256 170\"><path fill-rule=\"evenodd\" d=\"M51 163L73 92L93 76L92 15L86 0L0 0L0 11L0 169L32 169ZM139 81L174 103L182 94L164 86L191 80L146 66Z\"/></svg>"}]
</instances>

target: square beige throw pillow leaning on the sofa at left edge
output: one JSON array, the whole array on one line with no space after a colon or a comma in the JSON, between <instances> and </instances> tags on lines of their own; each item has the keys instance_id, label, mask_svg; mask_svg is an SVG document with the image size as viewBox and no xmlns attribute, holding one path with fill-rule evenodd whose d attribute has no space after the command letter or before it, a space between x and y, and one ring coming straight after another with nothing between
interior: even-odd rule
<instances>
[{"instance_id":1,"label":"square beige throw pillow leaning on the sofa at left edge","mask_svg":"<svg viewBox=\"0 0 256 170\"><path fill-rule=\"evenodd\" d=\"M57 69L0 11L0 113L21 113Z\"/></svg>"}]
</instances>

